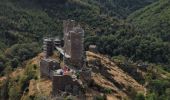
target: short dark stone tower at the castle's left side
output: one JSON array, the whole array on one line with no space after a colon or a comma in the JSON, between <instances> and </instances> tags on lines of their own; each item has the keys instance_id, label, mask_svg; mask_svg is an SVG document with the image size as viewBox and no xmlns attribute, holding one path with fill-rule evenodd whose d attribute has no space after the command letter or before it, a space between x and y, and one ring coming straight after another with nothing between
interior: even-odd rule
<instances>
[{"instance_id":1,"label":"short dark stone tower at the castle's left side","mask_svg":"<svg viewBox=\"0 0 170 100\"><path fill-rule=\"evenodd\" d=\"M44 38L44 42L43 43L44 43L44 45L43 45L44 54L45 54L45 57L48 58L48 57L53 55L53 50L54 50L53 39Z\"/></svg>"}]
</instances>

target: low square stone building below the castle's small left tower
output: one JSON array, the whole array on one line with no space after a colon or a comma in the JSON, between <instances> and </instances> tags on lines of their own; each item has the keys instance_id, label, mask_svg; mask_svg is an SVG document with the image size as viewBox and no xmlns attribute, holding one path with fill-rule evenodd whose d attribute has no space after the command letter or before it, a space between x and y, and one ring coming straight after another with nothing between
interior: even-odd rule
<instances>
[{"instance_id":1,"label":"low square stone building below the castle's small left tower","mask_svg":"<svg viewBox=\"0 0 170 100\"><path fill-rule=\"evenodd\" d=\"M60 64L53 59L42 59L40 61L40 74L41 77L46 76L52 78L53 70L60 69Z\"/></svg>"}]
</instances>

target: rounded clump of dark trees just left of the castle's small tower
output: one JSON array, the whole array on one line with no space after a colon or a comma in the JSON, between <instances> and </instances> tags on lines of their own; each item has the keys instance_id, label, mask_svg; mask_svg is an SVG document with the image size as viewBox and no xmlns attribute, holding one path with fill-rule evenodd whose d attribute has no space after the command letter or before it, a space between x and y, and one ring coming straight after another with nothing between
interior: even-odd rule
<instances>
[{"instance_id":1,"label":"rounded clump of dark trees just left of the castle's small tower","mask_svg":"<svg viewBox=\"0 0 170 100\"><path fill-rule=\"evenodd\" d=\"M25 60L28 60L29 58L34 57L39 51L40 48L38 48L37 43L15 44L5 51L5 56L7 59L11 60L12 66L14 63L23 62ZM14 67L17 66L18 64L14 64Z\"/></svg>"}]
</instances>

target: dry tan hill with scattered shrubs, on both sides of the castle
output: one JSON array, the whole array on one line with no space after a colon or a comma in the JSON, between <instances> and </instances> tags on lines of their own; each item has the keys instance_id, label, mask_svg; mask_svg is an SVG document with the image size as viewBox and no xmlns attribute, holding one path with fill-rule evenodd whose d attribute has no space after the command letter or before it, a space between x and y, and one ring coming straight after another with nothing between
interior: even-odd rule
<instances>
[{"instance_id":1,"label":"dry tan hill with scattered shrubs, on both sides of the castle","mask_svg":"<svg viewBox=\"0 0 170 100\"><path fill-rule=\"evenodd\" d=\"M89 67L92 68L93 80L90 87L86 90L87 100L91 100L94 97L103 97L103 94L106 96L107 100L131 100L134 98L138 100L137 98L140 96L143 97L143 95L148 98L146 100L150 100L149 98L159 98L154 93L150 94L151 88L164 87L159 90L159 92L163 92L164 89L169 86L166 80L169 78L170 73L165 74L165 72L162 73L160 70L154 73L149 72L148 69L148 71L144 72L142 75L142 77L147 77L143 79L146 83L149 82L149 77L159 77L159 79L161 79L161 74L164 74L163 77L165 80L160 81L161 84L159 84L158 80L152 80L148 84L142 84L134 79L134 77L140 77L139 74L135 74L135 76L129 74L128 70L125 70L121 65L110 60L108 57L92 52L86 52L86 55ZM23 66L24 68L18 68L16 71L13 71L9 74L8 78L0 77L0 97L7 96L8 98L21 98L23 100L51 99L51 80L40 78L39 76L39 61L42 57L43 54L41 53L26 61ZM55 55L53 57L56 58L58 56ZM129 67L133 69L132 66ZM143 72L143 70L138 69L137 73L140 72ZM133 70L133 73L136 72ZM168 95L168 92L166 92L166 95ZM76 97L73 98L76 99Z\"/></svg>"}]
</instances>

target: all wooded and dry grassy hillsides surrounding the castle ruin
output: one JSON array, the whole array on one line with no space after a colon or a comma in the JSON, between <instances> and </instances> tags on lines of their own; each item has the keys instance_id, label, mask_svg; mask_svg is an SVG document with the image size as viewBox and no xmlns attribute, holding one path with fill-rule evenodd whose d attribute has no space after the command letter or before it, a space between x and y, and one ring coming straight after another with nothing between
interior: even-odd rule
<instances>
[{"instance_id":1,"label":"all wooded and dry grassy hillsides surrounding the castle ruin","mask_svg":"<svg viewBox=\"0 0 170 100\"><path fill-rule=\"evenodd\" d=\"M88 55L97 65L91 64L95 83L87 95L169 100L169 4L168 0L0 0L0 96L19 100L50 94L51 82L38 77L42 39L62 37L63 20L73 19L85 30L85 49L97 45L98 54Z\"/></svg>"}]
</instances>

